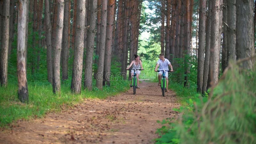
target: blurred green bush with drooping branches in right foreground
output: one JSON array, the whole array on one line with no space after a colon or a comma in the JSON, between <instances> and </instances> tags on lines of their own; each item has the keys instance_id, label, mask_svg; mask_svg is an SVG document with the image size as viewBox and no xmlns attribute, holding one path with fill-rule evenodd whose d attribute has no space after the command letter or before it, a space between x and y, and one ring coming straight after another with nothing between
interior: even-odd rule
<instances>
[{"instance_id":1,"label":"blurred green bush with drooping branches in right foreground","mask_svg":"<svg viewBox=\"0 0 256 144\"><path fill-rule=\"evenodd\" d=\"M224 76L209 97L180 108L177 122L162 121L156 143L256 143L256 70L232 66Z\"/></svg>"}]
</instances>

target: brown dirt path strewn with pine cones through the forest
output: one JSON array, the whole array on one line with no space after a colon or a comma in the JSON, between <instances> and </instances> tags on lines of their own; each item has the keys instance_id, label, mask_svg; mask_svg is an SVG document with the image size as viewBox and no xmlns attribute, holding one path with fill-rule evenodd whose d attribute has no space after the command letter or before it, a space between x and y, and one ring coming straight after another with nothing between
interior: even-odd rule
<instances>
[{"instance_id":1,"label":"brown dirt path strewn with pine cones through the forest","mask_svg":"<svg viewBox=\"0 0 256 144\"><path fill-rule=\"evenodd\" d=\"M44 118L19 121L10 130L0 132L0 143L154 143L157 120L176 118L178 108L174 92L161 95L157 83L140 84L105 100L84 100L82 104Z\"/></svg>"}]
</instances>

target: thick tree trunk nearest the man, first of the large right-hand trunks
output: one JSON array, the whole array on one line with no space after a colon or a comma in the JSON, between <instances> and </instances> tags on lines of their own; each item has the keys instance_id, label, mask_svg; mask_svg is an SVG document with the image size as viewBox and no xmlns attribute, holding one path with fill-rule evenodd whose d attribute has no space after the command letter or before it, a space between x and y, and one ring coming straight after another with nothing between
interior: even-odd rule
<instances>
[{"instance_id":1,"label":"thick tree trunk nearest the man, first of the large right-hand trunks","mask_svg":"<svg viewBox=\"0 0 256 144\"><path fill-rule=\"evenodd\" d=\"M205 52L205 21L206 21L206 0L199 1L199 42L197 59L197 89L201 93L203 89L204 76L204 52Z\"/></svg>"}]
</instances>

